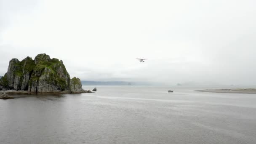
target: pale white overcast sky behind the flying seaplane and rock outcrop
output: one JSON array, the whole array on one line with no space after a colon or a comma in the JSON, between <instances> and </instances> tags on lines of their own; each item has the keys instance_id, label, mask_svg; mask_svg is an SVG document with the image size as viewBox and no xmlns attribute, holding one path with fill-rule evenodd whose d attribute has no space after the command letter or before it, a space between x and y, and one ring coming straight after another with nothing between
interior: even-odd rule
<instances>
[{"instance_id":1,"label":"pale white overcast sky behind the flying seaplane and rock outcrop","mask_svg":"<svg viewBox=\"0 0 256 144\"><path fill-rule=\"evenodd\" d=\"M255 85L256 1L0 0L0 75L38 53L81 80Z\"/></svg>"}]
</instances>

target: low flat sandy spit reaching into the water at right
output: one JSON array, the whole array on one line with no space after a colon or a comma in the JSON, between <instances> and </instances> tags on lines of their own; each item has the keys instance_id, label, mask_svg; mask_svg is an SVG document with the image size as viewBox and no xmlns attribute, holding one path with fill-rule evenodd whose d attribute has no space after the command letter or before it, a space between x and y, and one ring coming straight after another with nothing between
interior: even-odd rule
<instances>
[{"instance_id":1,"label":"low flat sandy spit reaching into the water at right","mask_svg":"<svg viewBox=\"0 0 256 144\"><path fill-rule=\"evenodd\" d=\"M208 93L248 93L256 94L256 88L234 88L234 89L206 89L206 90L196 90L199 92Z\"/></svg>"}]
</instances>

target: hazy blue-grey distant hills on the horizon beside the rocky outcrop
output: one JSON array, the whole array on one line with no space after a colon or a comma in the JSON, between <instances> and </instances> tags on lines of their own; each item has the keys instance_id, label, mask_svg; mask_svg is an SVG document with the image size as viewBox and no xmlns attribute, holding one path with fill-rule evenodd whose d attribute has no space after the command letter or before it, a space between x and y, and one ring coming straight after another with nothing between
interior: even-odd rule
<instances>
[{"instance_id":1,"label":"hazy blue-grey distant hills on the horizon beside the rocky outcrop","mask_svg":"<svg viewBox=\"0 0 256 144\"><path fill-rule=\"evenodd\" d=\"M125 81L81 81L82 85L149 85L144 82L125 82Z\"/></svg>"}]
</instances>

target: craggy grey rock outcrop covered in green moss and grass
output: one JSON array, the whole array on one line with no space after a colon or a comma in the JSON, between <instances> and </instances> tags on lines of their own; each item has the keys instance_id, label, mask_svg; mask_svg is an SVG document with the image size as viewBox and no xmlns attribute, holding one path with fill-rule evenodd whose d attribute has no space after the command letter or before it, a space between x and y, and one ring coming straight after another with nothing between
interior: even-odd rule
<instances>
[{"instance_id":1,"label":"craggy grey rock outcrop covered in green moss and grass","mask_svg":"<svg viewBox=\"0 0 256 144\"><path fill-rule=\"evenodd\" d=\"M7 73L0 79L0 88L34 93L86 92L79 78L70 80L61 60L51 59L45 53L37 55L35 60L30 57L22 61L12 59Z\"/></svg>"}]
</instances>

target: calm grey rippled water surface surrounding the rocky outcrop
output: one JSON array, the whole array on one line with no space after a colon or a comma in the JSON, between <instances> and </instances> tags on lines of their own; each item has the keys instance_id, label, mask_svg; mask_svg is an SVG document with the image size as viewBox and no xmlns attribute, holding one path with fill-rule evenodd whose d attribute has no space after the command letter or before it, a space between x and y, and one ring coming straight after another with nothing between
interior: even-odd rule
<instances>
[{"instance_id":1,"label":"calm grey rippled water surface surrounding the rocky outcrop","mask_svg":"<svg viewBox=\"0 0 256 144\"><path fill-rule=\"evenodd\" d=\"M97 86L0 100L0 144L256 143L256 94L197 89Z\"/></svg>"}]
</instances>

